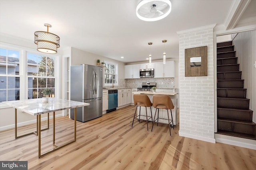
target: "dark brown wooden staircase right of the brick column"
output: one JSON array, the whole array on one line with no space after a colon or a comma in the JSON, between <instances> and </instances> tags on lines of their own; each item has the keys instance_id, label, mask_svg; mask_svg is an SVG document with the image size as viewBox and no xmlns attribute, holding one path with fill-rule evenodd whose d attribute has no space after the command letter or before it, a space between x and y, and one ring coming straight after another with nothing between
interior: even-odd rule
<instances>
[{"instance_id":1,"label":"dark brown wooden staircase right of the brick column","mask_svg":"<svg viewBox=\"0 0 256 170\"><path fill-rule=\"evenodd\" d=\"M256 140L253 111L232 41L217 43L217 77L217 133Z\"/></svg>"}]
</instances>

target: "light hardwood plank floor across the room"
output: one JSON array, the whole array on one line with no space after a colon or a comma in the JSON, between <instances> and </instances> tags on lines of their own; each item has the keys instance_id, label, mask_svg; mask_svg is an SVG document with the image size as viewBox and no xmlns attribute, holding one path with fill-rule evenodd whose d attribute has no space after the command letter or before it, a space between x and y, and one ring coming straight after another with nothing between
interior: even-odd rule
<instances>
[{"instance_id":1,"label":"light hardwood plank floor across the room","mask_svg":"<svg viewBox=\"0 0 256 170\"><path fill-rule=\"evenodd\" d=\"M14 139L14 129L0 132L0 160L26 160L31 170L255 170L256 150L208 143L180 137L178 125L154 125L147 131L146 121L134 122L135 106L107 113L100 118L77 121L77 139L62 149L38 158L36 135ZM73 137L74 121L56 118L56 143ZM42 125L42 128L45 127ZM152 123L149 123L151 129ZM18 135L36 125L18 128ZM42 150L52 148L50 130L42 132Z\"/></svg>"}]
</instances>

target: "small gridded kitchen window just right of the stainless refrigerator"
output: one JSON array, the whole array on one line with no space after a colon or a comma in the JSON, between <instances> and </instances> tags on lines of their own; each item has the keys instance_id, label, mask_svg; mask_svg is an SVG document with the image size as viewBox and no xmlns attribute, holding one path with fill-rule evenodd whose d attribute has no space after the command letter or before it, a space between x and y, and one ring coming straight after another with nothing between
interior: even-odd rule
<instances>
[{"instance_id":1,"label":"small gridded kitchen window just right of the stainless refrigerator","mask_svg":"<svg viewBox=\"0 0 256 170\"><path fill-rule=\"evenodd\" d=\"M105 69L104 69L104 86L118 86L118 64L104 62Z\"/></svg>"}]
</instances>

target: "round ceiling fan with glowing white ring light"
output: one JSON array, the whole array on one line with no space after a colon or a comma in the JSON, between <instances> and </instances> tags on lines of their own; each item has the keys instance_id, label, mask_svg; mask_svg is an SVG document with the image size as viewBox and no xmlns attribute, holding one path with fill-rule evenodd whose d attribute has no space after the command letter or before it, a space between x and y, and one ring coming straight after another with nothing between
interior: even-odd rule
<instances>
[{"instance_id":1,"label":"round ceiling fan with glowing white ring light","mask_svg":"<svg viewBox=\"0 0 256 170\"><path fill-rule=\"evenodd\" d=\"M171 6L170 0L142 0L136 8L136 15L144 21L161 20L170 14Z\"/></svg>"}]
</instances>

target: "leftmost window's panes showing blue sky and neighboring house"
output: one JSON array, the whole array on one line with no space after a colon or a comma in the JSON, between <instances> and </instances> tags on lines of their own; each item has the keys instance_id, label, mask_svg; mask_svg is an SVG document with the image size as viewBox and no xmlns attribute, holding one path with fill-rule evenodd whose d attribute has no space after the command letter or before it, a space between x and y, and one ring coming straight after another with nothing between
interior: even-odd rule
<instances>
[{"instance_id":1,"label":"leftmost window's panes showing blue sky and neighboring house","mask_svg":"<svg viewBox=\"0 0 256 170\"><path fill-rule=\"evenodd\" d=\"M0 48L0 102L20 100L20 51Z\"/></svg>"}]
</instances>

